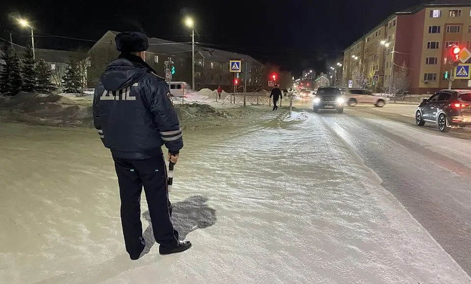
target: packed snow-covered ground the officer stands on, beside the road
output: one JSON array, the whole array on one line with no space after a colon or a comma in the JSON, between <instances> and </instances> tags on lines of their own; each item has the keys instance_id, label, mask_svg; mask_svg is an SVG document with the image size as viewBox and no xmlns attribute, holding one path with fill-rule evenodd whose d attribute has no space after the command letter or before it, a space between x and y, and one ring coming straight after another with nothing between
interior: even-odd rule
<instances>
[{"instance_id":1,"label":"packed snow-covered ground the officer stands on, beside the road","mask_svg":"<svg viewBox=\"0 0 471 284\"><path fill-rule=\"evenodd\" d=\"M194 246L138 261L95 131L1 124L0 283L471 282L337 118L252 110L234 128L185 132L171 200Z\"/></svg>"}]
</instances>

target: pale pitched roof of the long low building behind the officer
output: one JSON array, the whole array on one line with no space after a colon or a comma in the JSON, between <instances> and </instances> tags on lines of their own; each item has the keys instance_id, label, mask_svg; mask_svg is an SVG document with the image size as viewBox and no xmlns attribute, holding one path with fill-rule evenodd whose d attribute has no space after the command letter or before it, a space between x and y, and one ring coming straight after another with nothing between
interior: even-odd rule
<instances>
[{"instance_id":1,"label":"pale pitched roof of the long low building behind the officer","mask_svg":"<svg viewBox=\"0 0 471 284\"><path fill-rule=\"evenodd\" d=\"M119 34L118 31L108 31L107 33L111 33L114 36ZM147 51L149 52L179 55L182 57L191 57L191 43L172 42L172 41L167 41L167 40L163 40L159 38L148 38L148 39L149 39L149 49ZM251 64L262 65L262 63L255 60L249 55L235 53L235 52L226 51L226 50L215 49L211 47L195 46L195 53L201 54L201 56L203 56L205 60L214 61L214 62L229 63L229 60L244 59L250 62Z\"/></svg>"}]
</instances>

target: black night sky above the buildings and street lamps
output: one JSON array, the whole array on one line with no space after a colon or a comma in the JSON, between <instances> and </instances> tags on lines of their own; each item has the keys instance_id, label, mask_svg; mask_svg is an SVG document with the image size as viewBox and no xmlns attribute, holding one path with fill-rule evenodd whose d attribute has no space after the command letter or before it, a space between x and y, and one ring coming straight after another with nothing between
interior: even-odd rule
<instances>
[{"instance_id":1,"label":"black night sky above the buildings and street lamps","mask_svg":"<svg viewBox=\"0 0 471 284\"><path fill-rule=\"evenodd\" d=\"M310 67L321 71L326 60L340 56L343 48L393 12L423 0L276 2L2 0L0 37L8 39L7 31L12 30L15 43L28 43L28 31L12 19L12 15L21 15L33 22L36 47L90 47L91 41L51 35L96 41L106 30L131 29L142 30L151 37L190 41L183 18L193 15L197 42L247 53L299 73Z\"/></svg>"}]
</instances>

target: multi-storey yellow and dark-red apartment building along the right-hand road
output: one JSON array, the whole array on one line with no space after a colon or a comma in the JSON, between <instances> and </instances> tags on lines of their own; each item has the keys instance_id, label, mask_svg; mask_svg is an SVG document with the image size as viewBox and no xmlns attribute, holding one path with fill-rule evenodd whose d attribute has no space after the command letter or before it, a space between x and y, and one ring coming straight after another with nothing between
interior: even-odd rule
<instances>
[{"instance_id":1,"label":"multi-storey yellow and dark-red apartment building along the right-hand road","mask_svg":"<svg viewBox=\"0 0 471 284\"><path fill-rule=\"evenodd\" d=\"M363 49L356 49L359 43ZM368 88L387 89L391 74L405 63L410 93L446 89L450 44L471 47L471 0L435 0L392 14L344 50L344 80L352 80L354 67L361 63ZM374 75L379 75L379 82L372 81ZM468 84L455 80L453 88L468 89Z\"/></svg>"}]
</instances>

